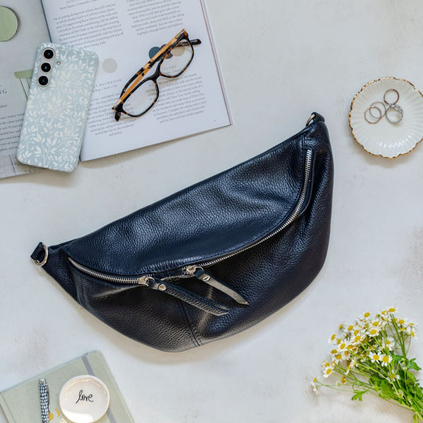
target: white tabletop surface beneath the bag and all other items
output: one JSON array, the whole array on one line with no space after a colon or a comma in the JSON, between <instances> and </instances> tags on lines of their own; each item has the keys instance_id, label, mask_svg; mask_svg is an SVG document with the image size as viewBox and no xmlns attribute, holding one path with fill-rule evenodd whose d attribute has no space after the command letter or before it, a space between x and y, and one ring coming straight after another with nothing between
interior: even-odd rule
<instances>
[{"instance_id":1,"label":"white tabletop surface beneath the bag and all other items","mask_svg":"<svg viewBox=\"0 0 423 423\"><path fill-rule=\"evenodd\" d=\"M396 305L423 325L423 145L372 157L348 128L367 81L393 75L423 89L421 2L212 0L209 13L235 125L71 175L0 181L0 390L99 349L137 423L411 422L378 398L314 396L309 381L341 321ZM85 235L238 164L296 133L314 110L336 166L328 257L305 293L253 329L161 353L109 329L30 262L39 240ZM423 364L422 338L413 353Z\"/></svg>"}]
</instances>

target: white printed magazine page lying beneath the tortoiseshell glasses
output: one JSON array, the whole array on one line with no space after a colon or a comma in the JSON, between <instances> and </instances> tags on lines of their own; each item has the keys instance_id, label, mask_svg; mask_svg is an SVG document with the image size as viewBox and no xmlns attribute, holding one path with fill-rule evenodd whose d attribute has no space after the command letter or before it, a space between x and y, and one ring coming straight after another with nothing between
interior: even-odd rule
<instances>
[{"instance_id":1,"label":"white printed magazine page lying beneath the tortoiseshell glasses","mask_svg":"<svg viewBox=\"0 0 423 423\"><path fill-rule=\"evenodd\" d=\"M231 124L202 0L43 0L43 4L53 42L90 49L99 56L82 160ZM138 118L122 114L116 121L111 108L126 82L183 28L190 39L202 42L193 47L190 66L178 78L159 77L159 98L146 114Z\"/></svg>"}]
</instances>

